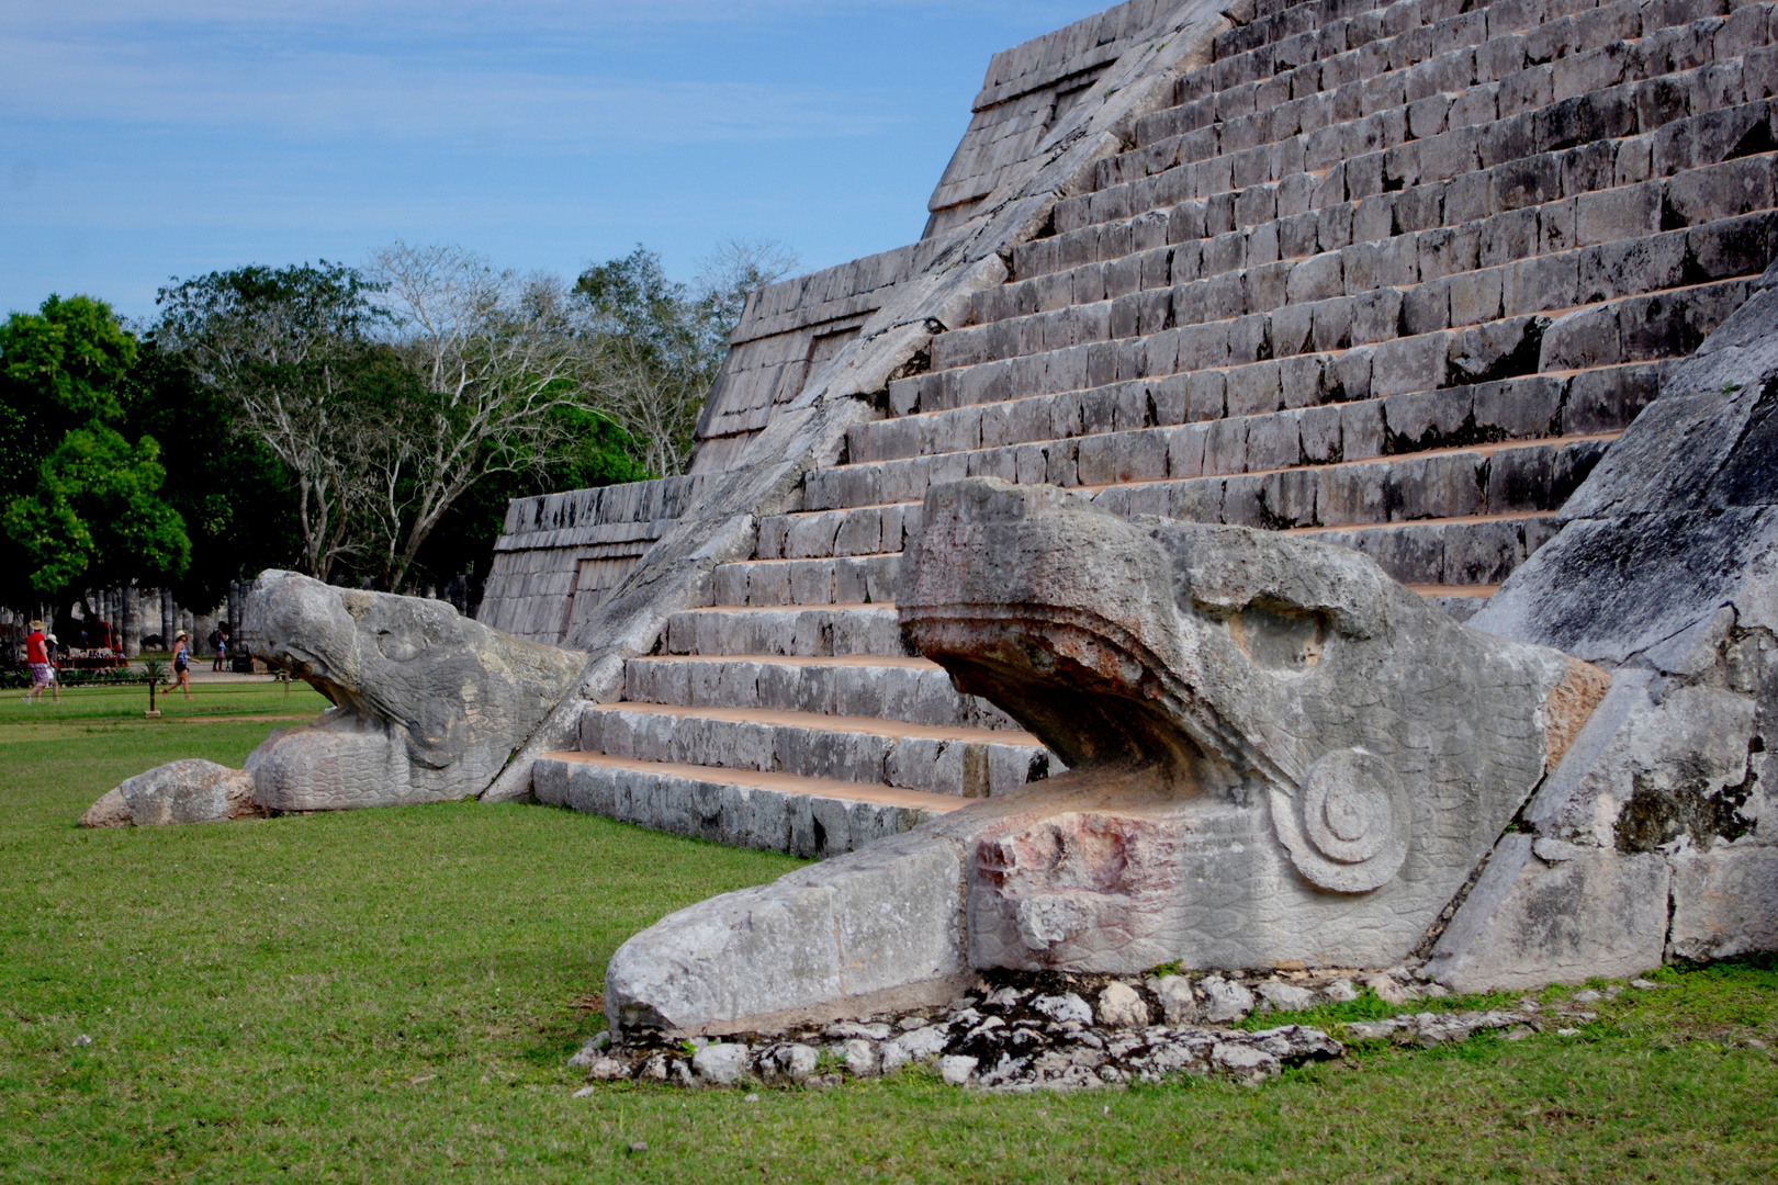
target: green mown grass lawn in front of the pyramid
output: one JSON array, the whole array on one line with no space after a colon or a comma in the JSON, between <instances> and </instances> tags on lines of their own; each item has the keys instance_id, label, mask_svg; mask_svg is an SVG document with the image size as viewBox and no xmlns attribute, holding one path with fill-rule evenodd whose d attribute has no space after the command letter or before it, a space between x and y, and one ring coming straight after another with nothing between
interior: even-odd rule
<instances>
[{"instance_id":1,"label":"green mown grass lawn in front of the pyramid","mask_svg":"<svg viewBox=\"0 0 1778 1185\"><path fill-rule=\"evenodd\" d=\"M573 1098L617 943L797 862L475 803L76 830L121 778L238 764L322 700L233 684L142 707L139 688L0 698L5 1181L1778 1176L1771 963L1661 972L1673 990L1595 1006L1577 1038L1366 1048L1261 1087L992 1096L905 1073Z\"/></svg>"}]
</instances>

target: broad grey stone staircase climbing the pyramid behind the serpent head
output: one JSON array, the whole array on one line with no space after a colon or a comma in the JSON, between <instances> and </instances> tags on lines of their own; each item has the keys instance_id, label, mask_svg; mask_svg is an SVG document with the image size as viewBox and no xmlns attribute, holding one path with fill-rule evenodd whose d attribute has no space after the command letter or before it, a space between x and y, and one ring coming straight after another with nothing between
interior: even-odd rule
<instances>
[{"instance_id":1,"label":"broad grey stone staircase climbing the pyramid behind the serpent head","mask_svg":"<svg viewBox=\"0 0 1778 1185\"><path fill-rule=\"evenodd\" d=\"M541 798L802 855L1060 769L901 636L942 481L1355 547L1467 616L1778 247L1774 5L1259 4L587 705Z\"/></svg>"}]
</instances>

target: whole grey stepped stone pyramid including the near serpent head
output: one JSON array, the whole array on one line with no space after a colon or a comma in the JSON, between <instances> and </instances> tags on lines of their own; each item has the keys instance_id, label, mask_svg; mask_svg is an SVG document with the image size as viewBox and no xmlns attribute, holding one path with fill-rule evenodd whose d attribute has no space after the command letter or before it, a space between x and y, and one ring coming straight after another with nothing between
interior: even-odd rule
<instances>
[{"instance_id":1,"label":"whole grey stepped stone pyramid including the near serpent head","mask_svg":"<svg viewBox=\"0 0 1778 1185\"><path fill-rule=\"evenodd\" d=\"M1778 949L1774 21L996 55L919 243L750 295L690 476L509 510L480 620L585 668L482 799L825 858L631 938L613 1027Z\"/></svg>"}]
</instances>

